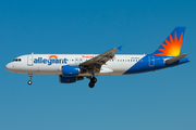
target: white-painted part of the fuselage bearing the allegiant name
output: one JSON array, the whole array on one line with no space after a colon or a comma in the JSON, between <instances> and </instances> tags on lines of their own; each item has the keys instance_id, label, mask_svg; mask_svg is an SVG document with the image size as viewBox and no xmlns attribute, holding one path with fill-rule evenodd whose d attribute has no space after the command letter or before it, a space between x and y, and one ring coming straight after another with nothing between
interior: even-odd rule
<instances>
[{"instance_id":1,"label":"white-painted part of the fuselage bearing the allegiant name","mask_svg":"<svg viewBox=\"0 0 196 130\"><path fill-rule=\"evenodd\" d=\"M95 56L97 54L28 54L16 57L17 61L9 63L5 67L8 70L19 74L62 75L62 66L79 65ZM100 72L95 75L122 75L144 56L145 54L117 54L112 60L102 65ZM85 73L78 76L90 75Z\"/></svg>"}]
</instances>

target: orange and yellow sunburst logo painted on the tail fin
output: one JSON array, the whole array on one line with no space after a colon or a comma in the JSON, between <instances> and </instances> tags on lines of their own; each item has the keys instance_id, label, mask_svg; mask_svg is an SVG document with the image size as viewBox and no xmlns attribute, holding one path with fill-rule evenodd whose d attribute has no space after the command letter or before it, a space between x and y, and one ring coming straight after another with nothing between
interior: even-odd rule
<instances>
[{"instance_id":1,"label":"orange and yellow sunburst logo painted on the tail fin","mask_svg":"<svg viewBox=\"0 0 196 130\"><path fill-rule=\"evenodd\" d=\"M170 41L168 41L166 39L164 42L167 44L164 44L164 43L161 44L163 49L157 49L157 50L161 51L162 53L155 54L155 55L177 56L180 54L181 46L182 46L182 41L183 41L183 32L181 34L181 37L179 40L177 40L176 31L174 34L175 34L174 39L170 35L169 36Z\"/></svg>"}]
</instances>

